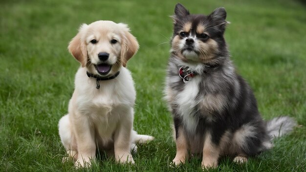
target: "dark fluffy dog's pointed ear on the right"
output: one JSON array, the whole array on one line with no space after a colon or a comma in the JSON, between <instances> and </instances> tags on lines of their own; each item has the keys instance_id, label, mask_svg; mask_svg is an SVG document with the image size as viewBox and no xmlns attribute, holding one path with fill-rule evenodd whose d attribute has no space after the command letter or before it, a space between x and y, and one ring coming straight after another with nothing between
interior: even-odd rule
<instances>
[{"instance_id":1,"label":"dark fluffy dog's pointed ear on the right","mask_svg":"<svg viewBox=\"0 0 306 172\"><path fill-rule=\"evenodd\" d=\"M212 18L214 24L216 27L219 27L221 30L225 30L226 24L229 24L230 22L225 21L226 19L226 11L225 8L219 7L216 8L210 15L209 17Z\"/></svg>"}]
</instances>

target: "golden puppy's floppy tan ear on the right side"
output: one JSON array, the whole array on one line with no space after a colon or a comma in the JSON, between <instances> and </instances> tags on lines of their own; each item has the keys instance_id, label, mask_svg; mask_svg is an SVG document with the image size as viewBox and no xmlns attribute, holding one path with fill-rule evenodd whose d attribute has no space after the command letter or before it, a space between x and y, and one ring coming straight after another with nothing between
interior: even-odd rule
<instances>
[{"instance_id":1,"label":"golden puppy's floppy tan ear on the right side","mask_svg":"<svg viewBox=\"0 0 306 172\"><path fill-rule=\"evenodd\" d=\"M130 33L127 24L119 23L123 29L122 43L121 43L121 58L122 65L125 67L131 57L137 52L139 45L136 38Z\"/></svg>"}]
</instances>

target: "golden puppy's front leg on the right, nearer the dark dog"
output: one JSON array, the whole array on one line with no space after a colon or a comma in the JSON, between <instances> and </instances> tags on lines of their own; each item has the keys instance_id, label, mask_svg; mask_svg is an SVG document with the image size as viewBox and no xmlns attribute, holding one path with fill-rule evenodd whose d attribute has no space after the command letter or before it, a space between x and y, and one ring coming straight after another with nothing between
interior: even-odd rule
<instances>
[{"instance_id":1,"label":"golden puppy's front leg on the right, nearer the dark dog","mask_svg":"<svg viewBox=\"0 0 306 172\"><path fill-rule=\"evenodd\" d=\"M127 110L128 113L121 115L120 123L114 135L115 158L121 163L134 163L131 155L131 131L133 126L133 109Z\"/></svg>"}]
</instances>

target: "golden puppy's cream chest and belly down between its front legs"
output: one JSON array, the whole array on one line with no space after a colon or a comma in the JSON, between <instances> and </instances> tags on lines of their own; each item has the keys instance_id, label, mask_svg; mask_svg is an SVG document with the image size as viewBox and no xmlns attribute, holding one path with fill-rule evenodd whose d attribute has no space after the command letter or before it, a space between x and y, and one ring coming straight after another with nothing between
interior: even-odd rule
<instances>
[{"instance_id":1,"label":"golden puppy's cream chest and belly down between its front legs","mask_svg":"<svg viewBox=\"0 0 306 172\"><path fill-rule=\"evenodd\" d=\"M109 140L113 131L122 116L132 110L135 102L136 92L133 87L130 72L122 69L116 79L100 81L100 88L97 89L96 80L88 78L86 71L79 69L76 76L76 100L70 103L75 104L80 115L87 116L91 125L95 128L101 138ZM74 97L74 96L73 96ZM71 109L72 111L74 109Z\"/></svg>"}]
</instances>

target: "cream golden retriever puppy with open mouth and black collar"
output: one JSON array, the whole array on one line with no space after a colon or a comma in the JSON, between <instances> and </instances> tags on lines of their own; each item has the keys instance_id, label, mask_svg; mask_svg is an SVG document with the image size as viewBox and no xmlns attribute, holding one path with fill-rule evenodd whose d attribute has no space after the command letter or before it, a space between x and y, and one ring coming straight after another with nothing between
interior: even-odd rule
<instances>
[{"instance_id":1,"label":"cream golden retriever puppy with open mouth and black collar","mask_svg":"<svg viewBox=\"0 0 306 172\"><path fill-rule=\"evenodd\" d=\"M95 21L81 25L68 49L81 63L68 114L59 122L68 156L77 167L90 166L99 149L134 163L135 143L153 140L132 129L136 92L125 66L138 50L136 38L126 24Z\"/></svg>"}]
</instances>

